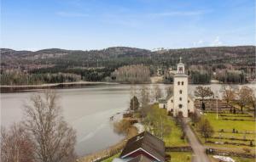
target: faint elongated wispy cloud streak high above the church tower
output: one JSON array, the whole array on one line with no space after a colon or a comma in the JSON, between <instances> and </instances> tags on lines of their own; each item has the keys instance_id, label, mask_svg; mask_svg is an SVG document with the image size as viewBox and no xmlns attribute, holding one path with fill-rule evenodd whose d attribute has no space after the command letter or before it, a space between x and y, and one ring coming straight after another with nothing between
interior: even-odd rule
<instances>
[{"instance_id":1,"label":"faint elongated wispy cloud streak high above the church tower","mask_svg":"<svg viewBox=\"0 0 256 162\"><path fill-rule=\"evenodd\" d=\"M148 15L154 16L154 17L170 17L170 16L196 16L204 13L205 13L204 11L172 11L172 12L154 13L154 14L148 14Z\"/></svg>"}]
</instances>

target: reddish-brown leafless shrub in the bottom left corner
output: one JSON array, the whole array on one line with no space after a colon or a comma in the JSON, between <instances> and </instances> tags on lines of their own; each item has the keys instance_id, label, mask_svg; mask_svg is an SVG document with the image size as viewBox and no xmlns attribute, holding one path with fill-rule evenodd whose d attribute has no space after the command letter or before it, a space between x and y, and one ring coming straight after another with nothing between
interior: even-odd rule
<instances>
[{"instance_id":1,"label":"reddish-brown leafless shrub in the bottom left corner","mask_svg":"<svg viewBox=\"0 0 256 162\"><path fill-rule=\"evenodd\" d=\"M9 130L1 128L1 161L34 162L34 144L26 129L14 124Z\"/></svg>"}]
</instances>

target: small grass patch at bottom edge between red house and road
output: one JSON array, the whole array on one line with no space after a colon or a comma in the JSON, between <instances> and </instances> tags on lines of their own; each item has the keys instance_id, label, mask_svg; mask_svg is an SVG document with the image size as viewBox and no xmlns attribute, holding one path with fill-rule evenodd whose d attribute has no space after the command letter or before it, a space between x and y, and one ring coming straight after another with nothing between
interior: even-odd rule
<instances>
[{"instance_id":1,"label":"small grass patch at bottom edge between red house and road","mask_svg":"<svg viewBox=\"0 0 256 162\"><path fill-rule=\"evenodd\" d=\"M190 162L192 154L189 152L170 152L170 162Z\"/></svg>"}]
</instances>

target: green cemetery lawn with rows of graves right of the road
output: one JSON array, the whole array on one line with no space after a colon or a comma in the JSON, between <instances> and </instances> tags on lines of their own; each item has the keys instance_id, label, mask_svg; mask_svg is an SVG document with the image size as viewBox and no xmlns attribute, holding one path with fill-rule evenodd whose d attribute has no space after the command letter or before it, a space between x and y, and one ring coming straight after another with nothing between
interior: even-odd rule
<instances>
[{"instance_id":1,"label":"green cemetery lawn with rows of graves right of the road","mask_svg":"<svg viewBox=\"0 0 256 162\"><path fill-rule=\"evenodd\" d=\"M251 154L255 152L255 147L250 146L251 142L255 145L256 137L255 121L252 116L224 114L223 116L218 115L217 120L216 114L211 113L204 115L204 117L210 121L215 131L213 136L207 139L208 142L205 145L239 153L245 153L244 149L249 149ZM205 142L205 139L198 132L196 134L201 142Z\"/></svg>"}]
</instances>

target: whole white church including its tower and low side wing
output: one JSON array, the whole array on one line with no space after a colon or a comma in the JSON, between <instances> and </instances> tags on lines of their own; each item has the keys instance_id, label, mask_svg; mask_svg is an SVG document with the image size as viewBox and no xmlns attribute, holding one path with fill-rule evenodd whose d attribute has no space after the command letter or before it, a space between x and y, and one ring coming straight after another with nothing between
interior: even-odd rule
<instances>
[{"instance_id":1,"label":"whole white church including its tower and low side wing","mask_svg":"<svg viewBox=\"0 0 256 162\"><path fill-rule=\"evenodd\" d=\"M188 117L189 113L194 112L194 100L189 96L189 76L185 74L185 66L181 62L177 64L177 73L173 80L173 95L166 98L165 101L160 100L159 107L167 108L172 112L173 116L182 115Z\"/></svg>"}]
</instances>

